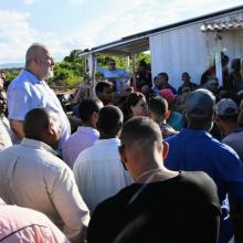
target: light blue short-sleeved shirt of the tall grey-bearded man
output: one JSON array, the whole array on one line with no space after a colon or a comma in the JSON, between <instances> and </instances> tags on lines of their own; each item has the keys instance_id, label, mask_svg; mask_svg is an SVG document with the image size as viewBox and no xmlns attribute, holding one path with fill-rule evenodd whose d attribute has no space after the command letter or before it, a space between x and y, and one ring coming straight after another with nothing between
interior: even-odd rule
<instances>
[{"instance_id":1,"label":"light blue short-sleeved shirt of the tall grey-bearded man","mask_svg":"<svg viewBox=\"0 0 243 243\"><path fill-rule=\"evenodd\" d=\"M62 138L60 146L71 135L70 122L55 93L45 81L38 80L32 73L22 71L8 88L9 119L24 120L25 114L36 107L53 112L61 123Z\"/></svg>"}]
</instances>

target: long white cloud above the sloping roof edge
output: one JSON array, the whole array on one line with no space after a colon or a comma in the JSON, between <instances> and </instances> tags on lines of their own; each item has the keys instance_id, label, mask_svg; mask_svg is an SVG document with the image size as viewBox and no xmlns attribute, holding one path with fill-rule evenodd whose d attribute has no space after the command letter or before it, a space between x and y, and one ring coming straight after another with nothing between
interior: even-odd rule
<instances>
[{"instance_id":1,"label":"long white cloud above the sloping roof edge","mask_svg":"<svg viewBox=\"0 0 243 243\"><path fill-rule=\"evenodd\" d=\"M94 47L123 36L241 4L242 0L114 0L107 12L70 36L78 47Z\"/></svg>"}]
</instances>

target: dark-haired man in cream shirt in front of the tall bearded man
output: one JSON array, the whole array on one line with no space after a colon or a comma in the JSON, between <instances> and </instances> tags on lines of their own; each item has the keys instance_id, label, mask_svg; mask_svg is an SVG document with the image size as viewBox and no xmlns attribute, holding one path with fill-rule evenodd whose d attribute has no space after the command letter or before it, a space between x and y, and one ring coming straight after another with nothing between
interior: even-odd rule
<instances>
[{"instance_id":1,"label":"dark-haired man in cream shirt in front of the tall bearded man","mask_svg":"<svg viewBox=\"0 0 243 243\"><path fill-rule=\"evenodd\" d=\"M89 221L72 170L55 156L61 127L53 113L30 110L20 145L0 152L0 197L45 213L72 243L83 242Z\"/></svg>"}]
</instances>

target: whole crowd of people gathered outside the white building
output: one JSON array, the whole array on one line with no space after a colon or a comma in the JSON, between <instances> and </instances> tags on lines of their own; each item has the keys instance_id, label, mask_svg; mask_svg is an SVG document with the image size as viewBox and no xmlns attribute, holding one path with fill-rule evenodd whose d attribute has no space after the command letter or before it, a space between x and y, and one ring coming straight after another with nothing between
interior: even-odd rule
<instances>
[{"instance_id":1,"label":"whole crowd of people gathered outside the white building","mask_svg":"<svg viewBox=\"0 0 243 243\"><path fill-rule=\"evenodd\" d=\"M144 60L133 86L110 59L72 117L53 66L35 43L8 89L0 76L1 242L243 242L240 60L222 87L212 66L177 89Z\"/></svg>"}]
</instances>

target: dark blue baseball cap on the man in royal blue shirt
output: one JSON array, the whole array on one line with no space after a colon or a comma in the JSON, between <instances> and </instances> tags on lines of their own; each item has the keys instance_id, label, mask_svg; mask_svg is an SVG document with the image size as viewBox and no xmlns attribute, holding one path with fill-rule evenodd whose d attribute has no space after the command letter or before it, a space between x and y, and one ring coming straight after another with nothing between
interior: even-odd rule
<instances>
[{"instance_id":1,"label":"dark blue baseball cap on the man in royal blue shirt","mask_svg":"<svg viewBox=\"0 0 243 243\"><path fill-rule=\"evenodd\" d=\"M207 118L215 110L215 96L205 88L191 92L184 103L186 113L192 118Z\"/></svg>"}]
</instances>

